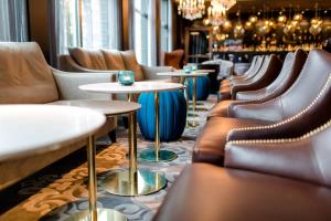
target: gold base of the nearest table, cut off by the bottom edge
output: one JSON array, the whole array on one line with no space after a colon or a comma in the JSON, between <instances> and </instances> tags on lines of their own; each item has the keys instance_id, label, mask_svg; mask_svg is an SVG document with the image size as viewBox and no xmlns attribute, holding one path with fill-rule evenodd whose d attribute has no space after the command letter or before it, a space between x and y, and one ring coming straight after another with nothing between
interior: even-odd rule
<instances>
[{"instance_id":1,"label":"gold base of the nearest table, cut off by the bottom edge","mask_svg":"<svg viewBox=\"0 0 331 221\"><path fill-rule=\"evenodd\" d=\"M84 210L81 212L77 212L67 219L65 221L90 221L93 220L90 218L90 213L88 210ZM97 209L97 220L98 221L127 221L128 219L120 212L111 209Z\"/></svg>"}]
</instances>

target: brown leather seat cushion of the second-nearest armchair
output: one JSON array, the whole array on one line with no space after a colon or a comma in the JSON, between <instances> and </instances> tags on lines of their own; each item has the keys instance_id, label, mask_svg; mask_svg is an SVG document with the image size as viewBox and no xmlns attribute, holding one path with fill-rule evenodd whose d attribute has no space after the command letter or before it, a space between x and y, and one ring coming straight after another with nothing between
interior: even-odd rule
<instances>
[{"instance_id":1,"label":"brown leather seat cushion of the second-nearest armchair","mask_svg":"<svg viewBox=\"0 0 331 221\"><path fill-rule=\"evenodd\" d=\"M231 129L266 124L261 120L213 117L207 120L195 141L192 160L223 166L224 147Z\"/></svg>"}]
</instances>

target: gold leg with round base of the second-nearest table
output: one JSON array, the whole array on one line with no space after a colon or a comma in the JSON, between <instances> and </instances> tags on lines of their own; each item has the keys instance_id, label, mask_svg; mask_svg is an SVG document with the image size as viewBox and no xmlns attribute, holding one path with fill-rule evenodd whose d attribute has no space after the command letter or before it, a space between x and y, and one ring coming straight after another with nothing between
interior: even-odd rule
<instances>
[{"instance_id":1,"label":"gold leg with round base of the second-nearest table","mask_svg":"<svg viewBox=\"0 0 331 221\"><path fill-rule=\"evenodd\" d=\"M159 191L167 185L164 176L137 167L137 119L136 113L129 114L129 169L114 171L102 180L102 187L118 196L142 196Z\"/></svg>"}]
</instances>

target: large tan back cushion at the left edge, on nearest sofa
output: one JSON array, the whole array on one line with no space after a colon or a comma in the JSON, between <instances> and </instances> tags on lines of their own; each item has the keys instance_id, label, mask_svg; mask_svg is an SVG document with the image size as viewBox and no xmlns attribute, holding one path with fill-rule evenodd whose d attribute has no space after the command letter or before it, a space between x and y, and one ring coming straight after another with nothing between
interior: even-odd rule
<instances>
[{"instance_id":1,"label":"large tan back cushion at the left edge, on nearest sofa","mask_svg":"<svg viewBox=\"0 0 331 221\"><path fill-rule=\"evenodd\" d=\"M0 42L0 104L43 104L56 99L56 84L39 45Z\"/></svg>"}]
</instances>

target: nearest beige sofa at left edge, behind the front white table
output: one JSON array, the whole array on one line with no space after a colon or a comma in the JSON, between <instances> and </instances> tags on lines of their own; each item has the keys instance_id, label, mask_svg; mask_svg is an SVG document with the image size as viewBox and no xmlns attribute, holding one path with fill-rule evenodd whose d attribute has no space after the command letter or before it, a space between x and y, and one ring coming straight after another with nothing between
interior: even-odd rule
<instances>
[{"instance_id":1,"label":"nearest beige sofa at left edge, behind the front white table","mask_svg":"<svg viewBox=\"0 0 331 221\"><path fill-rule=\"evenodd\" d=\"M4 104L110 98L109 95L89 94L78 90L81 84L110 81L114 81L113 73L65 73L51 69L36 43L0 42L0 108ZM108 118L97 136L105 135L115 127L115 119ZM49 154L0 162L0 189L67 156L85 144L86 140L79 140Z\"/></svg>"}]
</instances>

